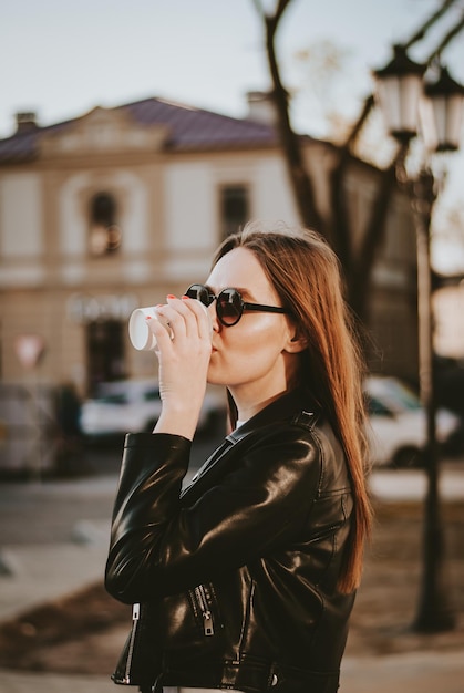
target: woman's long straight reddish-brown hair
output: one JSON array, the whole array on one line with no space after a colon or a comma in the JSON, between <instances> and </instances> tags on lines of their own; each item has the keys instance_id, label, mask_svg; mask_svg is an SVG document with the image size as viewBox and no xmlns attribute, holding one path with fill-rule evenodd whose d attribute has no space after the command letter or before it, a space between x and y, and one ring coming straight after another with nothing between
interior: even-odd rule
<instances>
[{"instance_id":1,"label":"woman's long straight reddish-brown hair","mask_svg":"<svg viewBox=\"0 0 464 693\"><path fill-rule=\"evenodd\" d=\"M326 240L309 229L282 224L267 229L248 223L219 246L213 266L237 247L251 250L297 324L307 348L301 354L301 384L311 391L347 456L354 518L343 557L339 589L360 582L372 509L367 487L363 361L351 313L343 300L339 261Z\"/></svg>"}]
</instances>

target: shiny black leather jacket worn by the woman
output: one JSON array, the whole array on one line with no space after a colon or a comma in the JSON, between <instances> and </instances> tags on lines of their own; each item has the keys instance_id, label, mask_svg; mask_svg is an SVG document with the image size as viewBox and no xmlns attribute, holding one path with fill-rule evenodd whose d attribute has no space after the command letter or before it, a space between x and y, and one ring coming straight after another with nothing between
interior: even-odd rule
<instances>
[{"instance_id":1,"label":"shiny black leather jacket worn by the woman","mask_svg":"<svg viewBox=\"0 0 464 693\"><path fill-rule=\"evenodd\" d=\"M134 603L113 679L332 693L354 594L337 591L353 503L341 446L301 391L227 436L182 490L190 443L126 437L106 589Z\"/></svg>"}]
</instances>

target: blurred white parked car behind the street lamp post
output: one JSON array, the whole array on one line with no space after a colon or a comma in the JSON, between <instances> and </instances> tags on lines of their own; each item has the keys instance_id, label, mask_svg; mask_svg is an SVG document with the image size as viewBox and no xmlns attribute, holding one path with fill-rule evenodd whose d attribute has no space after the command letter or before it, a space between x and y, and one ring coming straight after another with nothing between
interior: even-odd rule
<instances>
[{"instance_id":1,"label":"blurred white parked car behind the street lamp post","mask_svg":"<svg viewBox=\"0 0 464 693\"><path fill-rule=\"evenodd\" d=\"M370 418L368 438L374 465L422 466L426 443L426 413L415 393L395 377L374 376L364 385ZM458 417L445 408L436 412L436 441L445 444Z\"/></svg>"}]
</instances>

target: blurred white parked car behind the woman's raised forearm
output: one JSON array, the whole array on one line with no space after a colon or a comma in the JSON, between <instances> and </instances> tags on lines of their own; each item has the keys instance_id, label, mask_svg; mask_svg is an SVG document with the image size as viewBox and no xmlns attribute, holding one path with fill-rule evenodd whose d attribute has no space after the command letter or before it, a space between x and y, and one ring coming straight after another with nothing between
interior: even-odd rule
<instances>
[{"instance_id":1,"label":"blurred white parked car behind the woman's raised forearm","mask_svg":"<svg viewBox=\"0 0 464 693\"><path fill-rule=\"evenodd\" d=\"M125 380L102 383L93 399L81 408L81 428L87 437L109 437L125 433L153 431L162 403L157 381ZM223 392L208 387L198 421L198 431L206 431L224 415Z\"/></svg>"}]
</instances>

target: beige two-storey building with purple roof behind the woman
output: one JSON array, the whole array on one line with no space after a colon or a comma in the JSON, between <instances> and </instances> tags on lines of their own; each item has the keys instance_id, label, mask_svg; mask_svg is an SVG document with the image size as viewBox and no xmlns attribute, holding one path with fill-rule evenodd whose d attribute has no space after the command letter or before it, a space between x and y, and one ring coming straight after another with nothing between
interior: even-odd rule
<instances>
[{"instance_id":1,"label":"beige two-storey building with purple roof behind the woman","mask_svg":"<svg viewBox=\"0 0 464 693\"><path fill-rule=\"evenodd\" d=\"M18 114L16 134L0 141L1 380L29 377L42 346L35 376L72 382L81 394L154 374L153 355L128 342L133 308L204 280L217 244L248 218L298 223L267 116L237 120L162 99L49 127ZM330 214L334 147L309 137L303 146L318 205ZM378 176L352 165L359 234ZM373 365L414 377L414 234L396 197L370 297Z\"/></svg>"}]
</instances>

